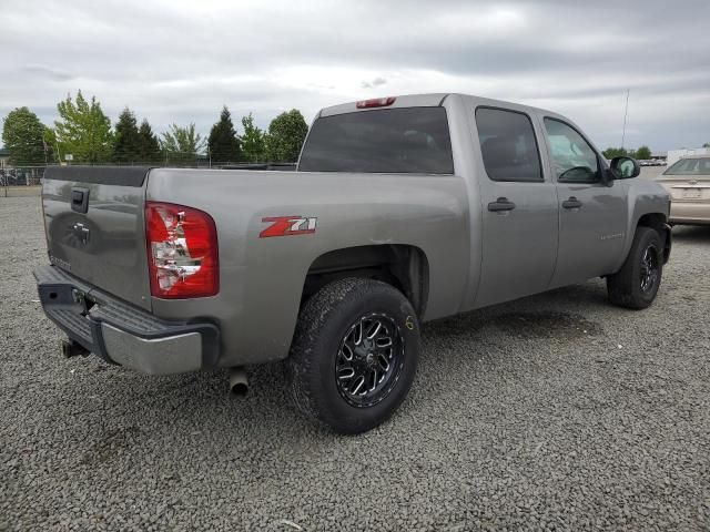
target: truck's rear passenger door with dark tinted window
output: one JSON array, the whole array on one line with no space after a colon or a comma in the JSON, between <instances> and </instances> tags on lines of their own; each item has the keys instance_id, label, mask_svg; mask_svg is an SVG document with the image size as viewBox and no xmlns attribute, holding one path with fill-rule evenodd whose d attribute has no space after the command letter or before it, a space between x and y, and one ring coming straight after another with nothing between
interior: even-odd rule
<instances>
[{"instance_id":1,"label":"truck's rear passenger door with dark tinted window","mask_svg":"<svg viewBox=\"0 0 710 532\"><path fill-rule=\"evenodd\" d=\"M479 106L475 124L485 175L479 177L483 257L476 306L547 289L557 255L557 196L545 176L531 116Z\"/></svg>"}]
</instances>

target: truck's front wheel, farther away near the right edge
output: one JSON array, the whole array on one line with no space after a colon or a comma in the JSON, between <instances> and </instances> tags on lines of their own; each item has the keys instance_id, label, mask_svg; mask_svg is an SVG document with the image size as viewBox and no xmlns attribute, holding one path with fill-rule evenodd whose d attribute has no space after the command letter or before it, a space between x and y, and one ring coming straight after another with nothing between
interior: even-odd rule
<instances>
[{"instance_id":1,"label":"truck's front wheel, farther away near the right edge","mask_svg":"<svg viewBox=\"0 0 710 532\"><path fill-rule=\"evenodd\" d=\"M658 294L663 273L663 242L656 229L638 227L621 269L607 277L607 291L615 305L647 308Z\"/></svg>"}]
</instances>

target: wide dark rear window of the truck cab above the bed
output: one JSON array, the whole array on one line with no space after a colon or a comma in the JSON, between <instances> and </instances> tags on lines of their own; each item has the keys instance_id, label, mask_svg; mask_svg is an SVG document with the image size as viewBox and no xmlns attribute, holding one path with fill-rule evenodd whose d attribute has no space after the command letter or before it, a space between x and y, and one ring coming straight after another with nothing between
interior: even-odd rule
<instances>
[{"instance_id":1,"label":"wide dark rear window of the truck cab above the bed","mask_svg":"<svg viewBox=\"0 0 710 532\"><path fill-rule=\"evenodd\" d=\"M446 110L381 109L317 119L298 170L453 174Z\"/></svg>"}]
</instances>

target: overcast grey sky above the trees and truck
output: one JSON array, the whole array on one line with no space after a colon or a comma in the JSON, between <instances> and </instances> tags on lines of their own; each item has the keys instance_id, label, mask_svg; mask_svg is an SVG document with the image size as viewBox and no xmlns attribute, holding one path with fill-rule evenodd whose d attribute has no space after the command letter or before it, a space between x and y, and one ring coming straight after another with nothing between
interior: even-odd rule
<instances>
[{"instance_id":1,"label":"overcast grey sky above the trees and truck","mask_svg":"<svg viewBox=\"0 0 710 532\"><path fill-rule=\"evenodd\" d=\"M226 104L300 109L464 92L570 116L600 146L710 142L710 0L2 0L0 116L48 124L81 89L115 122L206 133ZM235 122L236 122L235 121Z\"/></svg>"}]
</instances>

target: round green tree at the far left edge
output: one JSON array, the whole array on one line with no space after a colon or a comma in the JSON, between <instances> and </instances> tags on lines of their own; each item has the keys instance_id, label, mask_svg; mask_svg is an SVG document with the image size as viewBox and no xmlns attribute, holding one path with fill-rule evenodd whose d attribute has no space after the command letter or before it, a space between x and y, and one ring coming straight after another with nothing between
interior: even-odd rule
<instances>
[{"instance_id":1,"label":"round green tree at the far left edge","mask_svg":"<svg viewBox=\"0 0 710 532\"><path fill-rule=\"evenodd\" d=\"M44 124L28 108L10 111L2 126L2 143L14 165L42 164L45 161Z\"/></svg>"}]
</instances>

